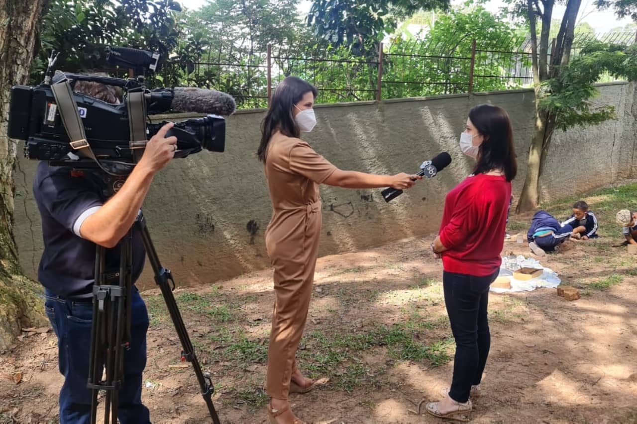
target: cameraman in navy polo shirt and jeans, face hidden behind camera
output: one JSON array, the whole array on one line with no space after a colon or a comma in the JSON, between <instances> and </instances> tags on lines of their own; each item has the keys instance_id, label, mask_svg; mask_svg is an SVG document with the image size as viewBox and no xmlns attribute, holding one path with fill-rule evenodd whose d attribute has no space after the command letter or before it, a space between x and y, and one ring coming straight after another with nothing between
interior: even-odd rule
<instances>
[{"instance_id":1,"label":"cameraman in navy polo shirt and jeans, face hidden behind camera","mask_svg":"<svg viewBox=\"0 0 637 424\"><path fill-rule=\"evenodd\" d=\"M106 86L78 81L76 92L118 102ZM99 174L71 167L38 164L33 194L42 219L44 251L38 269L45 288L47 316L58 340L58 362L64 385L60 392L60 423L89 423L91 390L87 388L92 289L95 281L96 244L106 249L106 271L119 271L118 241L136 220L155 174L176 151L177 139L166 138L173 124L164 125L146 146L140 162L110 199ZM140 276L145 249L139 231L132 233L132 281ZM108 283L117 284L117 277ZM148 312L140 293L131 299L131 343L124 352L124 376L119 390L120 423L150 423L141 403L141 373L146 365Z\"/></svg>"}]
</instances>

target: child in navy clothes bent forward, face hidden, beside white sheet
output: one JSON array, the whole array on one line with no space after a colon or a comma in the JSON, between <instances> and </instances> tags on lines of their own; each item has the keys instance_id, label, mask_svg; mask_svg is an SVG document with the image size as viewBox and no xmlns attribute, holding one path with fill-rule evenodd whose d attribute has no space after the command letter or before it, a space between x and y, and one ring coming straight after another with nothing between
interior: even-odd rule
<instances>
[{"instance_id":1,"label":"child in navy clothes bent forward, face hidden, beside white sheet","mask_svg":"<svg viewBox=\"0 0 637 424\"><path fill-rule=\"evenodd\" d=\"M533 253L544 256L547 251L554 251L558 244L568 240L571 234L573 234L571 224L561 224L547 211L537 211L533 215L526 239Z\"/></svg>"}]
</instances>

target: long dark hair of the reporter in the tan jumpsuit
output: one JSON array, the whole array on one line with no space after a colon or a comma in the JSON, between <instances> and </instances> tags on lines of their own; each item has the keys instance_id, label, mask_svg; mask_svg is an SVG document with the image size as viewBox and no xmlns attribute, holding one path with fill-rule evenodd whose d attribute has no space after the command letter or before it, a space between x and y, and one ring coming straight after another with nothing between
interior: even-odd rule
<instances>
[{"instance_id":1,"label":"long dark hair of the reporter in the tan jumpsuit","mask_svg":"<svg viewBox=\"0 0 637 424\"><path fill-rule=\"evenodd\" d=\"M288 137L298 138L301 135L301 130L294 121L292 108L303 99L303 95L307 92L311 92L316 99L317 89L296 76L288 76L276 86L268 113L261 123L261 144L257 150L257 156L261 162L266 162L268 143L276 131L281 131Z\"/></svg>"}]
</instances>

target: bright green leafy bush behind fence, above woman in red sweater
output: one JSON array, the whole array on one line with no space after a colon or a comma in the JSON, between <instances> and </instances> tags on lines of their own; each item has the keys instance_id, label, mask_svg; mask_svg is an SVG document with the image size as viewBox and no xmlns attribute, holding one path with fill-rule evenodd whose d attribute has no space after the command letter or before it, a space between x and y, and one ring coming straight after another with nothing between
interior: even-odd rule
<instances>
[{"instance_id":1,"label":"bright green leafy bush behind fence, above woman in red sweater","mask_svg":"<svg viewBox=\"0 0 637 424\"><path fill-rule=\"evenodd\" d=\"M385 56L383 98L467 92L473 39L477 40L474 91L506 90L529 83L505 78L515 69L529 67L529 55L501 53L519 50L522 31L476 7L441 15L422 41L394 38Z\"/></svg>"}]
</instances>

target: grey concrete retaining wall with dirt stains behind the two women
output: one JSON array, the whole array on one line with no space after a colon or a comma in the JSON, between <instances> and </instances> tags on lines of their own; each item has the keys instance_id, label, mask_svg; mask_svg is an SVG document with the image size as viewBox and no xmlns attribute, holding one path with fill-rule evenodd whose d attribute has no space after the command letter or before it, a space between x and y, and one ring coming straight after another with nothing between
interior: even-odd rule
<instances>
[{"instance_id":1,"label":"grey concrete retaining wall with dirt stains behind the two women","mask_svg":"<svg viewBox=\"0 0 637 424\"><path fill-rule=\"evenodd\" d=\"M613 104L618 120L557 132L541 179L543 199L615 183L634 176L637 97L634 85L599 87L599 104ZM533 92L517 90L427 99L318 106L318 125L306 140L341 169L413 173L440 152L452 164L386 204L380 190L323 186L320 254L378 246L435 231L445 194L471 172L458 140L476 104L505 108L515 131L519 176L524 182L533 131ZM144 210L162 263L180 284L201 285L269 266L264 229L271 204L262 166L255 157L264 111L241 111L227 119L225 153L202 152L175 160L155 178ZM181 118L181 117L180 117ZM176 119L173 117L173 119ZM21 155L20 155L21 156ZM31 187L36 162L20 157L15 173L16 237L27 274L36 276L41 227ZM141 285L152 285L147 266Z\"/></svg>"}]
</instances>

